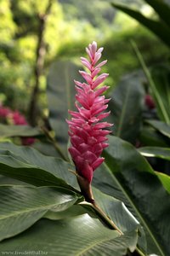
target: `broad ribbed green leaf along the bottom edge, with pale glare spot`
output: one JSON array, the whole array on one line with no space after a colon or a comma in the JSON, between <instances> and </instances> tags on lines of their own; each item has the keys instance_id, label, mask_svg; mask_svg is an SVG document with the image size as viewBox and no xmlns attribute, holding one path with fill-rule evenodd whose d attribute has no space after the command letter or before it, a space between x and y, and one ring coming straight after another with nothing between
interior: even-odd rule
<instances>
[{"instance_id":1,"label":"broad ribbed green leaf along the bottom edge, with pale glare spot","mask_svg":"<svg viewBox=\"0 0 170 256\"><path fill-rule=\"evenodd\" d=\"M137 231L119 236L98 219L83 214L76 218L51 221L42 219L31 229L13 239L3 241L0 251L39 251L48 255L122 256L127 248L134 250Z\"/></svg>"}]
</instances>

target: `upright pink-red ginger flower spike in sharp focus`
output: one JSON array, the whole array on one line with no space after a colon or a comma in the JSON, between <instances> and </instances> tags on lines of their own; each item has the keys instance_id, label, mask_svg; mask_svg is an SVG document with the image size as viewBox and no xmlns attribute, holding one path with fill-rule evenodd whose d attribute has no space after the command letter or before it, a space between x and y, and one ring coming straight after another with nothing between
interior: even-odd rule
<instances>
[{"instance_id":1,"label":"upright pink-red ginger flower spike in sharp focus","mask_svg":"<svg viewBox=\"0 0 170 256\"><path fill-rule=\"evenodd\" d=\"M82 64L88 68L88 72L79 71L86 83L75 81L77 102L75 103L77 112L70 111L71 120L69 124L69 135L71 137L71 148L69 152L77 168L77 174L85 178L88 183L92 182L94 170L105 160L100 157L104 148L108 147L106 135L111 131L105 128L111 127L107 122L101 122L110 112L103 113L108 107L105 96L101 96L109 86L99 87L108 77L107 73L99 76L101 68L107 61L96 63L101 57L103 48L97 49L97 43L93 42L86 48L89 61L81 58ZM96 65L96 66L95 66Z\"/></svg>"}]
</instances>

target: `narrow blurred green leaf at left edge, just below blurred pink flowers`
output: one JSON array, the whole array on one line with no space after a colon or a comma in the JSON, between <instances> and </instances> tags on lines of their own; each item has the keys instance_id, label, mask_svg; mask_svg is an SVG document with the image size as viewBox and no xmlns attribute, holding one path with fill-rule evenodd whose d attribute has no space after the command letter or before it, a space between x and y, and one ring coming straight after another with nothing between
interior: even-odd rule
<instances>
[{"instance_id":1,"label":"narrow blurred green leaf at left edge, just below blurred pink flowers","mask_svg":"<svg viewBox=\"0 0 170 256\"><path fill-rule=\"evenodd\" d=\"M32 137L41 135L42 131L28 125L2 125L0 124L0 137Z\"/></svg>"}]
</instances>

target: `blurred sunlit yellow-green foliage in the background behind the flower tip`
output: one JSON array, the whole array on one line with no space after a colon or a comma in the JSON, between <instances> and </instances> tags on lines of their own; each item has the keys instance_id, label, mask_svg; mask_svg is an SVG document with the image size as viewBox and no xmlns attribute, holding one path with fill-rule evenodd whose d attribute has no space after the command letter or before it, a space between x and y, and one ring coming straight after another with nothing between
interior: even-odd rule
<instances>
[{"instance_id":1,"label":"blurred sunlit yellow-green foliage in the background behind the flower tip","mask_svg":"<svg viewBox=\"0 0 170 256\"><path fill-rule=\"evenodd\" d=\"M153 15L144 1L120 3ZM108 84L116 86L122 75L139 68L130 44L132 38L147 65L167 61L167 47L137 21L111 7L111 1L1 0L0 102L29 118L39 61L37 105L42 114L50 64L61 59L79 61L84 47L93 40L105 47Z\"/></svg>"}]
</instances>

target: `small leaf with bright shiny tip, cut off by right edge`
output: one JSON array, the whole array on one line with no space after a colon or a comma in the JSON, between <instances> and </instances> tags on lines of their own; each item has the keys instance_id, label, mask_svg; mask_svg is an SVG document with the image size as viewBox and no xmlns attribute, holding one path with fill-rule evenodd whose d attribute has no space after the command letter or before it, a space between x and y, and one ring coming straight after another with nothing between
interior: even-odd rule
<instances>
[{"instance_id":1,"label":"small leaf with bright shiny tip, cut off by right edge","mask_svg":"<svg viewBox=\"0 0 170 256\"><path fill-rule=\"evenodd\" d=\"M143 147L139 148L139 153L147 157L158 157L170 160L170 148L161 147Z\"/></svg>"}]
</instances>

